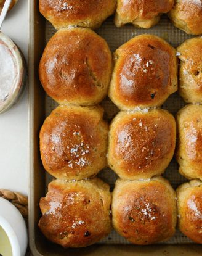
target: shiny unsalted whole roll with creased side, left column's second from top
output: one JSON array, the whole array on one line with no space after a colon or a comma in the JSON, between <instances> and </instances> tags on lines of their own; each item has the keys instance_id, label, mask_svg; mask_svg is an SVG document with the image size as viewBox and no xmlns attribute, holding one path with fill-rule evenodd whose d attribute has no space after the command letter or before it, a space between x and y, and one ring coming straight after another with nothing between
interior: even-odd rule
<instances>
[{"instance_id":1,"label":"shiny unsalted whole roll with creased side, left column's second from top","mask_svg":"<svg viewBox=\"0 0 202 256\"><path fill-rule=\"evenodd\" d=\"M106 41L88 28L59 30L39 65L42 86L59 104L99 103L107 95L111 71Z\"/></svg>"}]
</instances>

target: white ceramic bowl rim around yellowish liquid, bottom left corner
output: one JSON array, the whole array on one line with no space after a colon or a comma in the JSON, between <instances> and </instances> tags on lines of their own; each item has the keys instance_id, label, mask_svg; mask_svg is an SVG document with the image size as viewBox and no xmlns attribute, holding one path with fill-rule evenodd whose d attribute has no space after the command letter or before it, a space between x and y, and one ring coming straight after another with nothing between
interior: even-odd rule
<instances>
[{"instance_id":1,"label":"white ceramic bowl rim around yellowish liquid, bottom left corner","mask_svg":"<svg viewBox=\"0 0 202 256\"><path fill-rule=\"evenodd\" d=\"M25 220L14 205L1 197L0 226L9 237L12 256L24 256L28 240Z\"/></svg>"}]
</instances>

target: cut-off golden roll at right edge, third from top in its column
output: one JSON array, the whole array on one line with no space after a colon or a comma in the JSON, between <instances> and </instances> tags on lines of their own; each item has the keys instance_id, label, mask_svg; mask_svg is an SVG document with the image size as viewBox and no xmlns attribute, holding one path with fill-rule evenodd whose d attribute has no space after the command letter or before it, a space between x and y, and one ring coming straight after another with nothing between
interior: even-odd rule
<instances>
[{"instance_id":1,"label":"cut-off golden roll at right edge, third from top in its column","mask_svg":"<svg viewBox=\"0 0 202 256\"><path fill-rule=\"evenodd\" d=\"M202 180L202 105L187 105L177 114L179 172Z\"/></svg>"}]
</instances>

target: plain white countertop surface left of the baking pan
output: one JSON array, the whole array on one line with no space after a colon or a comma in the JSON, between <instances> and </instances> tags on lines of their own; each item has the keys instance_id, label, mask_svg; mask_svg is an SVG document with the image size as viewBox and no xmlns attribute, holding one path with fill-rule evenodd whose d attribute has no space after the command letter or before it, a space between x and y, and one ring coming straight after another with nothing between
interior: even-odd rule
<instances>
[{"instance_id":1,"label":"plain white countertop surface left of the baking pan","mask_svg":"<svg viewBox=\"0 0 202 256\"><path fill-rule=\"evenodd\" d=\"M18 0L2 25L28 56L28 0ZM0 188L28 194L28 96L0 115Z\"/></svg>"}]
</instances>

